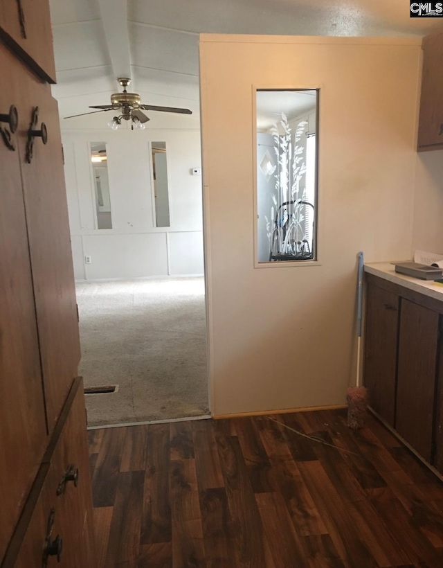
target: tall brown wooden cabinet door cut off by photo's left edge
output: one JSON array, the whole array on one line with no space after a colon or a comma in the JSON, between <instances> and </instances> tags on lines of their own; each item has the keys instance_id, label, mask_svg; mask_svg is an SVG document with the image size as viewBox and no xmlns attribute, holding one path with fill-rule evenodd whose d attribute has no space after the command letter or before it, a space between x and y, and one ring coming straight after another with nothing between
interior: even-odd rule
<instances>
[{"instance_id":1,"label":"tall brown wooden cabinet door cut off by photo's left edge","mask_svg":"<svg viewBox=\"0 0 443 568\"><path fill-rule=\"evenodd\" d=\"M19 107L17 62L0 45L0 113ZM6 123L0 123L3 131ZM0 135L0 560L46 446L33 281L21 188L17 138L9 150Z\"/></svg>"}]
</instances>

